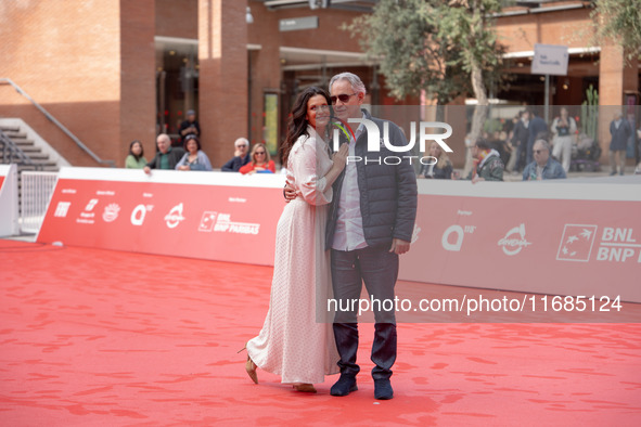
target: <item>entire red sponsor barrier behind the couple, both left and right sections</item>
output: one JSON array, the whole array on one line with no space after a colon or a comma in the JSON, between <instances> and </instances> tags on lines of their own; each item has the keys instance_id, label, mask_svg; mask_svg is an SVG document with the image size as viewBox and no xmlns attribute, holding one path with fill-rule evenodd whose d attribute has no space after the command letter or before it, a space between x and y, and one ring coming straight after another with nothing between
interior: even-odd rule
<instances>
[{"instance_id":1,"label":"entire red sponsor barrier behind the couple, both left and right sections","mask_svg":"<svg viewBox=\"0 0 641 427\"><path fill-rule=\"evenodd\" d=\"M641 179L611 182L419 180L399 279L641 302ZM38 241L270 266L283 185L280 174L63 168Z\"/></svg>"}]
</instances>

